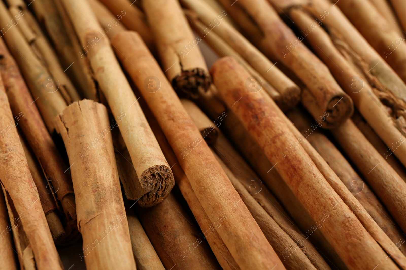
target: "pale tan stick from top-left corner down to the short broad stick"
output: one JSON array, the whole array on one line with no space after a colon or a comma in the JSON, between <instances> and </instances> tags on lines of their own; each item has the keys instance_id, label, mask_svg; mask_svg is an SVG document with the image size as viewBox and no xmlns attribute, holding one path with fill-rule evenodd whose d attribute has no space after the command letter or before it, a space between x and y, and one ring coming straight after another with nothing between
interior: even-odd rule
<instances>
[{"instance_id":1,"label":"pale tan stick from top-left corner down to the short broad stick","mask_svg":"<svg viewBox=\"0 0 406 270\"><path fill-rule=\"evenodd\" d=\"M24 16L24 15L19 15ZM6 26L13 18L7 11L4 3L0 3L0 24ZM17 18L16 18L17 19ZM48 127L54 132L54 121L56 115L66 107L66 102L60 91L55 90L56 84L51 74L43 66L37 55L20 32L19 28L13 26L3 34L5 43L19 63L24 78L31 91L32 97Z\"/></svg>"}]
</instances>

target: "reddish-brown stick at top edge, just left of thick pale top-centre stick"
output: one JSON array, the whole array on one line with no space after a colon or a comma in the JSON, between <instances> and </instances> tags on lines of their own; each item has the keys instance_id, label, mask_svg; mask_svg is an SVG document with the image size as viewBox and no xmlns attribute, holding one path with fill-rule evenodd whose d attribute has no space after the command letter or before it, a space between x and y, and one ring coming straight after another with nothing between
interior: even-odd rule
<instances>
[{"instance_id":1,"label":"reddish-brown stick at top edge, just left of thick pale top-centre stick","mask_svg":"<svg viewBox=\"0 0 406 270\"><path fill-rule=\"evenodd\" d=\"M136 31L143 38L148 48L155 52L155 41L149 29L147 20L143 13L138 10L136 3L129 3L128 0L97 0L102 2L114 16L120 16L126 28Z\"/></svg>"}]
</instances>

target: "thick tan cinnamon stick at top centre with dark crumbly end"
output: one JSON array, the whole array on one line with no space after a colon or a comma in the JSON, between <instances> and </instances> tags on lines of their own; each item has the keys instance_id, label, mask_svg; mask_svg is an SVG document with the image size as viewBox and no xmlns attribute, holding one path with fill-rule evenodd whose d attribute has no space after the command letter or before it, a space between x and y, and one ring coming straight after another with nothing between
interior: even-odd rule
<instances>
[{"instance_id":1,"label":"thick tan cinnamon stick at top centre with dark crumbly end","mask_svg":"<svg viewBox=\"0 0 406 270\"><path fill-rule=\"evenodd\" d=\"M197 98L199 89L209 89L212 77L198 45L200 38L193 36L178 0L143 1L142 5L166 77L178 93Z\"/></svg>"}]
</instances>

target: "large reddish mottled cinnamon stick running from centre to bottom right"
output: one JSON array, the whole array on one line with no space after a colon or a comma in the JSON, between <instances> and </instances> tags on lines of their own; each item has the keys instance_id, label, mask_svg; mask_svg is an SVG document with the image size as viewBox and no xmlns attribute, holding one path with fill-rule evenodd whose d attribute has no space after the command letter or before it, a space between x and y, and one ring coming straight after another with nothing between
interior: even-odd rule
<instances>
[{"instance_id":1,"label":"large reddish mottled cinnamon stick running from centre to bottom right","mask_svg":"<svg viewBox=\"0 0 406 270\"><path fill-rule=\"evenodd\" d=\"M222 58L213 65L211 74L216 87L227 105L232 106L233 112L264 149L268 159L275 164L275 169L313 220L319 224L322 222L320 230L346 266L349 269L369 269L379 264L385 269L397 269L393 261L385 260L382 248L350 208L341 203L342 199L300 145L300 140L295 138L284 120L263 100L261 92L248 92L245 80L249 75L247 72L241 73L235 67L239 64L232 61ZM285 147L291 144L294 144L294 150L286 152ZM349 227L351 230L348 230Z\"/></svg>"}]
</instances>

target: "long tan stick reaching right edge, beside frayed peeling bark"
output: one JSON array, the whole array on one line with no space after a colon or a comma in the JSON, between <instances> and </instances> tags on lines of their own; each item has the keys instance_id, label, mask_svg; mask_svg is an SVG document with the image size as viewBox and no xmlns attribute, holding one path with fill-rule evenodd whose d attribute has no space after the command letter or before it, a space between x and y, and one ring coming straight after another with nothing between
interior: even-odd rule
<instances>
[{"instance_id":1,"label":"long tan stick reaching right edge, beside frayed peeling bark","mask_svg":"<svg viewBox=\"0 0 406 270\"><path fill-rule=\"evenodd\" d=\"M289 14L301 30L307 29L316 23L313 18L300 9L292 9ZM324 21L329 16L324 17ZM381 96L382 92L376 88L378 86L376 84L373 87L370 85L371 81L365 79L365 74L356 68L355 63L343 56L348 55L348 53L342 55L322 27L314 28L311 34L307 36L307 40L320 58L328 65L337 81L351 96L355 106L380 138L389 146L398 141L399 138L406 140L405 134L402 133L400 125L394 118L395 116L385 113L387 108L380 101L380 98L385 102L391 102L394 99L389 98L387 95ZM394 153L403 164L406 164L406 145L400 145Z\"/></svg>"}]
</instances>

